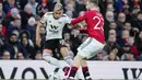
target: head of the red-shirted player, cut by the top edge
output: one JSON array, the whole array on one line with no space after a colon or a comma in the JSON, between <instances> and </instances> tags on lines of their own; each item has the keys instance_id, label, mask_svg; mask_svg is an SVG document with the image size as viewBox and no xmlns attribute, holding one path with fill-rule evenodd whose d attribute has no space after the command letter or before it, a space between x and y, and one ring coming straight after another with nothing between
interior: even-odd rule
<instances>
[{"instance_id":1,"label":"head of the red-shirted player, cut by the top edge","mask_svg":"<svg viewBox=\"0 0 142 80\"><path fill-rule=\"evenodd\" d=\"M98 5L98 0L88 0L88 1L86 2L86 9L87 9L87 10L92 10L92 9L94 9L94 8L97 9L97 5Z\"/></svg>"}]
</instances>

